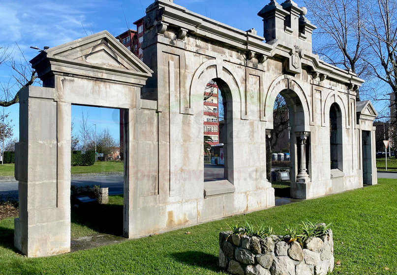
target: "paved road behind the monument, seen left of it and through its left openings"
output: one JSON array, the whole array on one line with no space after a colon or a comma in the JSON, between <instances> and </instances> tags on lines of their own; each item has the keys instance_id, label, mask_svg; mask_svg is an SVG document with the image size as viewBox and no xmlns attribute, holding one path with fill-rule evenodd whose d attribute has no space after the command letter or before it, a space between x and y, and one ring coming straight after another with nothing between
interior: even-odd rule
<instances>
[{"instance_id":1,"label":"paved road behind the monument, seen left of it and through its left openings","mask_svg":"<svg viewBox=\"0 0 397 275\"><path fill-rule=\"evenodd\" d=\"M211 164L204 165L205 181L223 180L224 166L216 166ZM73 179L71 185L86 186L99 185L100 187L108 187L109 195L123 193L124 178L122 176L98 176L92 179ZM0 183L0 197L11 196L18 197L18 182L2 182Z\"/></svg>"}]
</instances>

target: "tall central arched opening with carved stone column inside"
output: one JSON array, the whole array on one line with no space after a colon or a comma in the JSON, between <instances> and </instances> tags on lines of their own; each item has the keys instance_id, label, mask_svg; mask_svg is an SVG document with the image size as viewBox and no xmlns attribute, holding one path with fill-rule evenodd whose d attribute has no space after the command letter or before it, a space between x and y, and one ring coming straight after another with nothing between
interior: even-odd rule
<instances>
[{"instance_id":1,"label":"tall central arched opening with carved stone column inside","mask_svg":"<svg viewBox=\"0 0 397 275\"><path fill-rule=\"evenodd\" d=\"M275 98L273 129L267 135L267 177L276 197L302 197L297 182L308 179L309 133L302 101L291 89Z\"/></svg>"}]
</instances>

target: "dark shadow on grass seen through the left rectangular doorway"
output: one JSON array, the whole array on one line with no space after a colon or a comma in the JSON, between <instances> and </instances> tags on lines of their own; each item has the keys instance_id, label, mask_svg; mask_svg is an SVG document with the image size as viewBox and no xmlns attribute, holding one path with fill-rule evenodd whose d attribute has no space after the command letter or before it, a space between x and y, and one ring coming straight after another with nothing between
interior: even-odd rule
<instances>
[{"instance_id":1,"label":"dark shadow on grass seen through the left rectangular doorway","mask_svg":"<svg viewBox=\"0 0 397 275\"><path fill-rule=\"evenodd\" d=\"M119 200L122 195L117 195ZM116 197L116 196L114 196ZM87 203L71 210L73 223L87 226L98 233L122 236L123 205Z\"/></svg>"}]
</instances>

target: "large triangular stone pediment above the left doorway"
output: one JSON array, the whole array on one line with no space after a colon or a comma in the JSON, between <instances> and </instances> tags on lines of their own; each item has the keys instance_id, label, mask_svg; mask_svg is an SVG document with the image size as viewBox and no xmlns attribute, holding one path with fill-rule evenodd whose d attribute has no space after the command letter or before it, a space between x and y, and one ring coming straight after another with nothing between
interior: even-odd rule
<instances>
[{"instance_id":1,"label":"large triangular stone pediment above the left doorway","mask_svg":"<svg viewBox=\"0 0 397 275\"><path fill-rule=\"evenodd\" d=\"M60 46L45 50L47 57L74 60L84 64L117 68L137 73L151 74L152 70L133 55L108 31L104 30ZM35 63L40 55L31 60ZM38 60L37 60L38 61Z\"/></svg>"}]
</instances>

